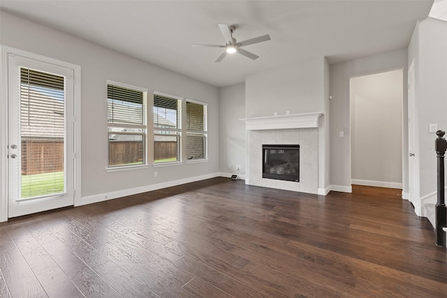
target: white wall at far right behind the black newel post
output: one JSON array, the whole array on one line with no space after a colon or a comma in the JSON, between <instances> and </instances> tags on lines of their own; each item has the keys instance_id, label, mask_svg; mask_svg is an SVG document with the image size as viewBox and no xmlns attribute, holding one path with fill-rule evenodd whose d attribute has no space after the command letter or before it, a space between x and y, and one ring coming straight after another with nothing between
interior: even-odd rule
<instances>
[{"instance_id":1,"label":"white wall at far right behind the black newel post","mask_svg":"<svg viewBox=\"0 0 447 298\"><path fill-rule=\"evenodd\" d=\"M430 124L447 131L447 22L418 22L409 45L408 63L415 61L420 198L436 201L437 158Z\"/></svg>"}]
</instances>

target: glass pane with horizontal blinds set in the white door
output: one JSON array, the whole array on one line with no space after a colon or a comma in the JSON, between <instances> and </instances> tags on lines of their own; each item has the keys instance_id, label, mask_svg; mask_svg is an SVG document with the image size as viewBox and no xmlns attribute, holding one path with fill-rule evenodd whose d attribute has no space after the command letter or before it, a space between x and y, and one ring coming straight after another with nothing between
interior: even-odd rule
<instances>
[{"instance_id":1,"label":"glass pane with horizontal blinds set in the white door","mask_svg":"<svg viewBox=\"0 0 447 298\"><path fill-rule=\"evenodd\" d=\"M63 76L20 67L21 198L64 193Z\"/></svg>"}]
</instances>

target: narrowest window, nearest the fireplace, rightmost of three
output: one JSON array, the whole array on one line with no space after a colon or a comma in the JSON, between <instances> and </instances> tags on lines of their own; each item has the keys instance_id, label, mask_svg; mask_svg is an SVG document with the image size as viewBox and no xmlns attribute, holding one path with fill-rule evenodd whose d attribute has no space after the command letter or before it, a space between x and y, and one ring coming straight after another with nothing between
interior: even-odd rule
<instances>
[{"instance_id":1,"label":"narrowest window, nearest the fireplace, rightmost of three","mask_svg":"<svg viewBox=\"0 0 447 298\"><path fill-rule=\"evenodd\" d=\"M207 105L186 101L186 158L206 159Z\"/></svg>"}]
</instances>

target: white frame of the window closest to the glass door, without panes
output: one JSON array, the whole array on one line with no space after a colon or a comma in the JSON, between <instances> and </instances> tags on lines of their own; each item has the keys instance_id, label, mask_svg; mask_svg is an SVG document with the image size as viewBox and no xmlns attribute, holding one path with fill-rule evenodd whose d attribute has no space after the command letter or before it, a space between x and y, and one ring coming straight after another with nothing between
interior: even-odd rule
<instances>
[{"instance_id":1,"label":"white frame of the window closest to the glass door, without panes","mask_svg":"<svg viewBox=\"0 0 447 298\"><path fill-rule=\"evenodd\" d=\"M119 123L119 122L109 122L109 120L107 120L107 144L108 144L108 161L107 161L107 167L106 167L106 172L115 172L115 171L122 171L122 170L136 170L136 169L141 169L141 168L146 168L148 167L148 158L147 158L147 148L148 148L148 137L147 137L147 94L148 94L148 89L143 88L143 87L138 87L135 85L131 85L131 84L126 84L126 83L122 83L122 82L116 82L116 81L112 81L112 80L106 80L106 93L108 93L107 89L109 85L113 85L116 87L122 87L122 88L126 88L126 89L131 89L131 90L135 90L135 91L141 91L143 93L143 98L142 98L142 124L123 124L123 123ZM108 105L108 94L105 96L106 97L106 103ZM107 113L109 112L109 109L107 107ZM108 117L108 116L107 116ZM109 119L109 118L108 118ZM129 132L129 133L125 133L125 132L117 132L117 131L113 131L113 128L136 128L136 129L141 129L142 132ZM119 165L110 165L110 134L114 134L114 135L138 135L138 136L142 136L142 163L138 163L135 165L132 164L119 164Z\"/></svg>"}]
</instances>

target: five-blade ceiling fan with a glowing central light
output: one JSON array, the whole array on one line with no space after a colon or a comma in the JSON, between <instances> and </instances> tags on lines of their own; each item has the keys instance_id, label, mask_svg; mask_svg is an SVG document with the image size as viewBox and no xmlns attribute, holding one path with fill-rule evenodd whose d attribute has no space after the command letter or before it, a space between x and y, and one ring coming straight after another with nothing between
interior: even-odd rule
<instances>
[{"instance_id":1,"label":"five-blade ceiling fan with a glowing central light","mask_svg":"<svg viewBox=\"0 0 447 298\"><path fill-rule=\"evenodd\" d=\"M236 31L236 27L231 25L228 26L226 24L219 24L219 29L221 30L221 33L223 35L223 38L225 39L225 45L191 45L193 47L224 47L225 51L217 58L215 62L222 61L223 58L226 57L226 54L231 53L239 53L245 57L249 57L252 60L256 60L259 58L259 56L248 52L246 50L241 49L241 47L244 47L245 45L253 45L254 43L262 43L263 41L270 40L270 35L266 34L263 36L258 36L255 38L247 39L244 41L237 42L236 38L233 37L233 33Z\"/></svg>"}]
</instances>

